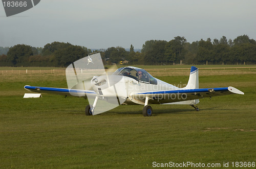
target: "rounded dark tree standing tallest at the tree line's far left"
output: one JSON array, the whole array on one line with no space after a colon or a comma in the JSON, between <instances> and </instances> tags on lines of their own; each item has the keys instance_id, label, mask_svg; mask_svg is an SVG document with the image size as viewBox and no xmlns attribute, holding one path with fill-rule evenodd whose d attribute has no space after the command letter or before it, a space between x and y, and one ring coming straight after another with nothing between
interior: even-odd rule
<instances>
[{"instance_id":1,"label":"rounded dark tree standing tallest at the tree line's far left","mask_svg":"<svg viewBox=\"0 0 256 169\"><path fill-rule=\"evenodd\" d=\"M17 44L10 47L7 57L15 66L17 63L23 65L28 61L29 56L33 55L32 47L26 44Z\"/></svg>"}]
</instances>

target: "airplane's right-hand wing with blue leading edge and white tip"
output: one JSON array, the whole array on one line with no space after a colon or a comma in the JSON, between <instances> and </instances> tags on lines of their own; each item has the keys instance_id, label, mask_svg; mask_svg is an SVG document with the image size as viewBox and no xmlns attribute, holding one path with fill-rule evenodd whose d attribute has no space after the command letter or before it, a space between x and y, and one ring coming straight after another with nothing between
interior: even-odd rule
<instances>
[{"instance_id":1,"label":"airplane's right-hand wing with blue leading edge and white tip","mask_svg":"<svg viewBox=\"0 0 256 169\"><path fill-rule=\"evenodd\" d=\"M132 95L133 99L145 102L145 98L149 98L148 103L164 104L182 102L188 100L196 100L202 98L211 98L212 96L220 96L227 94L244 94L242 91L234 87L221 88L202 88L202 89L185 89L185 90L162 90L141 92Z\"/></svg>"}]
</instances>

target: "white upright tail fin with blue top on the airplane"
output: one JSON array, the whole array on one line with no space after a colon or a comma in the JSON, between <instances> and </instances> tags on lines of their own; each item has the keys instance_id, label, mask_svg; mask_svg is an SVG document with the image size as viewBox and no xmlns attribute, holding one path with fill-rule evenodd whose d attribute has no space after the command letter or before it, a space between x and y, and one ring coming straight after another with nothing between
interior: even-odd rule
<instances>
[{"instance_id":1,"label":"white upright tail fin with blue top on the airplane","mask_svg":"<svg viewBox=\"0 0 256 169\"><path fill-rule=\"evenodd\" d=\"M187 82L187 86L184 89L198 89L199 80L198 80L198 68L195 66L191 67L190 76Z\"/></svg>"}]
</instances>

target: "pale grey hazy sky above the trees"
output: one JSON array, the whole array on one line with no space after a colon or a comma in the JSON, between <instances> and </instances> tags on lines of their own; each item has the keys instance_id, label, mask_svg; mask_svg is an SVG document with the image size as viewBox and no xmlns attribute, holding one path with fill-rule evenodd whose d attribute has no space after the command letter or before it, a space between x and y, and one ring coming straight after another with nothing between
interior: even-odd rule
<instances>
[{"instance_id":1,"label":"pale grey hazy sky above the trees","mask_svg":"<svg viewBox=\"0 0 256 169\"><path fill-rule=\"evenodd\" d=\"M237 0L41 0L6 17L0 4L0 46L44 47L54 41L108 49L141 49L147 40L256 40L256 1Z\"/></svg>"}]
</instances>

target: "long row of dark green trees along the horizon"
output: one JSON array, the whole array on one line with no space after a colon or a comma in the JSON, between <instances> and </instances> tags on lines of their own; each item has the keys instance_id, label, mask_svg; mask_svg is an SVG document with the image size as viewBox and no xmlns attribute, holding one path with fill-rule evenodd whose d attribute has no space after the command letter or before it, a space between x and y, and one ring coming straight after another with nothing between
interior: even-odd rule
<instances>
[{"instance_id":1,"label":"long row of dark green trees along the horizon","mask_svg":"<svg viewBox=\"0 0 256 169\"><path fill-rule=\"evenodd\" d=\"M7 51L0 47L0 52L3 50ZM104 64L256 64L256 41L247 35L234 40L222 36L213 41L208 38L192 43L187 42L185 37L177 36L170 41L148 40L141 52L135 52L133 45L130 51L120 46L100 51ZM0 55L0 66L65 67L92 52L97 50L68 42L52 42L43 48L17 44Z\"/></svg>"}]
</instances>

